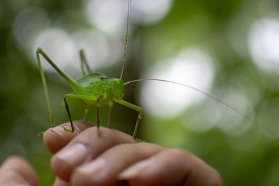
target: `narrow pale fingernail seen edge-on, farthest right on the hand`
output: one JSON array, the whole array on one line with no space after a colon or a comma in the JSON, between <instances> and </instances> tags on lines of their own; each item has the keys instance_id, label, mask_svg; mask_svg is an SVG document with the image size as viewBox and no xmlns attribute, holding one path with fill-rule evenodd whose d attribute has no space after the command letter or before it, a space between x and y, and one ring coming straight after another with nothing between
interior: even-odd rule
<instances>
[{"instance_id":1,"label":"narrow pale fingernail seen edge-on, farthest right on the hand","mask_svg":"<svg viewBox=\"0 0 279 186\"><path fill-rule=\"evenodd\" d=\"M137 162L136 164L128 167L127 169L124 169L117 178L119 180L129 180L132 178L137 177L140 172L144 171L145 169L148 169L149 166L153 163L153 158L149 158L148 160L142 160L141 162Z\"/></svg>"}]
</instances>

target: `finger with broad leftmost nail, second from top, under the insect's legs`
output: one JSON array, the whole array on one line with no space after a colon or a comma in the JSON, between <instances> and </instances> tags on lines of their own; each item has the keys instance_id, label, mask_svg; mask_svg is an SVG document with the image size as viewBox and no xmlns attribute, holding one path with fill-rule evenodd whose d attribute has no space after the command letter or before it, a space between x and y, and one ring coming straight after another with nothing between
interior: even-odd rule
<instances>
[{"instance_id":1,"label":"finger with broad leftmost nail, second from top, under the insect's legs","mask_svg":"<svg viewBox=\"0 0 279 186\"><path fill-rule=\"evenodd\" d=\"M51 160L52 171L62 180L68 181L77 166L88 162L117 144L135 143L133 137L117 130L90 127L56 153Z\"/></svg>"}]
</instances>

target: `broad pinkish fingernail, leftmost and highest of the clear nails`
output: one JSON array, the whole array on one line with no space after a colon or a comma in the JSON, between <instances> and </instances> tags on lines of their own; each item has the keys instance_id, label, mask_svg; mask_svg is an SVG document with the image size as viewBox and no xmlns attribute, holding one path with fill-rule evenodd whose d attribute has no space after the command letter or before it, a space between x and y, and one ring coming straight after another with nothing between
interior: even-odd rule
<instances>
[{"instance_id":1,"label":"broad pinkish fingernail, leftmost and highest of the clear nails","mask_svg":"<svg viewBox=\"0 0 279 186\"><path fill-rule=\"evenodd\" d=\"M69 164L80 164L88 159L88 151L88 148L84 144L78 143L64 148L55 157Z\"/></svg>"}]
</instances>

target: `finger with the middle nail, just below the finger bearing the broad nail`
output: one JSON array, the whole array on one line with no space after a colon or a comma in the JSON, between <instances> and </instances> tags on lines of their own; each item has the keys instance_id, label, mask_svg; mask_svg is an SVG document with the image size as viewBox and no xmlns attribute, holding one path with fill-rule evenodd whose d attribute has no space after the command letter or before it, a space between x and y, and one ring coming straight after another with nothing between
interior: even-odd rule
<instances>
[{"instance_id":1,"label":"finger with the middle nail, just below the finger bearing the broad nail","mask_svg":"<svg viewBox=\"0 0 279 186\"><path fill-rule=\"evenodd\" d=\"M115 185L116 176L126 167L163 150L156 144L121 144L106 150L96 160L78 167L71 178L73 185Z\"/></svg>"}]
</instances>

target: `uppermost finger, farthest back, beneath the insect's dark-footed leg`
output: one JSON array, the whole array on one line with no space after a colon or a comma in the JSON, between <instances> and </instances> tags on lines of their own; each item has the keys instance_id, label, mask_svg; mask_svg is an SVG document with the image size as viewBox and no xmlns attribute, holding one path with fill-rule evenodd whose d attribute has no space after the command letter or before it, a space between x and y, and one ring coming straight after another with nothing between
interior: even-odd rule
<instances>
[{"instance_id":1,"label":"uppermost finger, farthest back, beneath the insect's dark-footed leg","mask_svg":"<svg viewBox=\"0 0 279 186\"><path fill-rule=\"evenodd\" d=\"M74 137L77 136L77 134L93 126L91 123L86 121L73 121L73 123L75 125L75 132L73 133L67 132L63 128L66 127L68 130L72 130L70 122L52 127L45 132L43 141L47 149L50 150L52 154L66 146Z\"/></svg>"}]
</instances>

